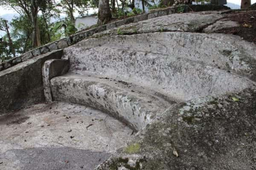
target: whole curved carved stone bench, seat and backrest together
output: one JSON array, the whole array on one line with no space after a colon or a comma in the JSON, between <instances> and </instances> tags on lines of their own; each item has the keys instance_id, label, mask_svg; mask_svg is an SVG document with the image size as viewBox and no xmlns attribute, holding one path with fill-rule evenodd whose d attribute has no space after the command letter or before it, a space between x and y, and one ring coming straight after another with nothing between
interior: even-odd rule
<instances>
[{"instance_id":1,"label":"whole curved carved stone bench, seat and backrest together","mask_svg":"<svg viewBox=\"0 0 256 170\"><path fill-rule=\"evenodd\" d=\"M220 58L216 63L226 60L225 55L216 53L222 47L211 49L207 55L205 49L196 50L197 46L187 53L169 50L170 40L163 37L177 35L189 33L102 37L64 49L70 72L51 79L53 100L100 109L141 130L174 103L255 86L249 79L209 63L211 58ZM151 47L147 43L140 46L143 38L151 36L160 38L150 42Z\"/></svg>"}]
</instances>

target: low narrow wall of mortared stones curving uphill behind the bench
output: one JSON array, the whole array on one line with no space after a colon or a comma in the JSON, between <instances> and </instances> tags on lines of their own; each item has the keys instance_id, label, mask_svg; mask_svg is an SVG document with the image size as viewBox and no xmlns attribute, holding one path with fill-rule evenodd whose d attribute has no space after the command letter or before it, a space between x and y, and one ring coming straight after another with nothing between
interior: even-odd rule
<instances>
[{"instance_id":1,"label":"low narrow wall of mortared stones curving uphill behind the bench","mask_svg":"<svg viewBox=\"0 0 256 170\"><path fill-rule=\"evenodd\" d=\"M217 6L217 5L184 5L184 6L175 6L175 7L168 7L164 9L152 10L146 14L140 14L134 17L126 18L124 20L111 22L104 26L99 26L86 31L81 31L74 35L71 35L70 37L65 37L61 40L57 40L57 41L45 44L44 46L41 46L39 48L32 49L31 51L26 52L20 55L19 57L12 58L9 61L1 63L0 71L7 69L11 66L15 66L17 63L27 61L28 59L33 58L35 56L42 55L57 49L64 49L65 47L71 46L87 37L90 37L95 33L105 31L107 29L111 29L114 27L122 26L128 23L136 23L138 21L147 20L154 17L160 17L163 15L169 15L169 14L178 13L178 12L200 12L200 11L212 11L212 10L223 10L223 9L229 9L229 8L227 6Z\"/></svg>"}]
</instances>

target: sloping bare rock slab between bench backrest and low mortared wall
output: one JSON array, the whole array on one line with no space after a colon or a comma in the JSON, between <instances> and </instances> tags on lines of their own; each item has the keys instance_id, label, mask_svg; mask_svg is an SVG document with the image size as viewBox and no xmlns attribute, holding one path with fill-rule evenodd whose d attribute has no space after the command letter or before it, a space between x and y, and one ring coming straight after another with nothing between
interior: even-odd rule
<instances>
[{"instance_id":1,"label":"sloping bare rock slab between bench backrest and low mortared wall","mask_svg":"<svg viewBox=\"0 0 256 170\"><path fill-rule=\"evenodd\" d=\"M221 17L223 17L221 14L170 14L162 17L152 17L152 19L138 23L130 23L118 28L108 29L93 35L93 37L166 31L198 32L204 27L215 23Z\"/></svg>"}]
</instances>

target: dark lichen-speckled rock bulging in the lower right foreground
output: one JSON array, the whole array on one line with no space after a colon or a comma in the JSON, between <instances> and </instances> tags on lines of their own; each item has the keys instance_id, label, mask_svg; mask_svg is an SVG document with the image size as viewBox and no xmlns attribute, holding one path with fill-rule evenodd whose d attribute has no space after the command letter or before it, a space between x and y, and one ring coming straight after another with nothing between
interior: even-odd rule
<instances>
[{"instance_id":1,"label":"dark lichen-speckled rock bulging in the lower right foreground","mask_svg":"<svg viewBox=\"0 0 256 170\"><path fill-rule=\"evenodd\" d=\"M255 94L245 89L170 108L96 169L255 170Z\"/></svg>"}]
</instances>

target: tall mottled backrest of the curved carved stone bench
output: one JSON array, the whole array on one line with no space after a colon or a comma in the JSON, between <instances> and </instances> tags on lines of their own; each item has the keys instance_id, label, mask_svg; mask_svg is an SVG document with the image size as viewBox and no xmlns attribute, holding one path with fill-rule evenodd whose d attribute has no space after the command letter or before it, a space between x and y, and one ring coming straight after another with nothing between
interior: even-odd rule
<instances>
[{"instance_id":1,"label":"tall mottled backrest of the curved carved stone bench","mask_svg":"<svg viewBox=\"0 0 256 170\"><path fill-rule=\"evenodd\" d=\"M198 40L194 39L195 36L198 36ZM243 41L240 43L241 47L236 44L223 46L221 40L224 35L214 35L212 38L210 36L163 32L102 37L84 40L66 48L64 56L70 58L71 71L81 74L91 72L131 82L180 101L206 95L220 95L252 86L253 83L247 78L222 69L225 62L233 63L234 69L244 72L253 66L254 63L246 65L231 62L222 53L227 48L232 50L231 47L235 46L237 48L230 53L244 52L240 59L253 59L253 56L242 51L247 43ZM213 38L217 40L207 47ZM189 43L192 44L189 46ZM249 47L248 50L256 50L255 46ZM207 48L210 49L207 51ZM215 61L212 62L213 60Z\"/></svg>"}]
</instances>

